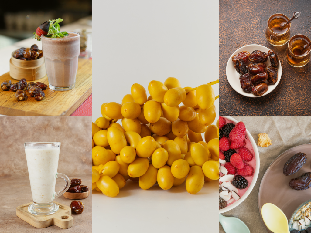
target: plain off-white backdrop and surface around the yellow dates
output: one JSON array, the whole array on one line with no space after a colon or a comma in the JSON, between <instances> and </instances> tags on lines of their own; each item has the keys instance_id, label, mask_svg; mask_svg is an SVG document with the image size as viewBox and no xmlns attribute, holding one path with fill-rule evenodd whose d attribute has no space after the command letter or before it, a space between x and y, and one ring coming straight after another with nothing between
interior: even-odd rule
<instances>
[{"instance_id":1,"label":"plain off-white backdrop and surface around the yellow dates","mask_svg":"<svg viewBox=\"0 0 311 233\"><path fill-rule=\"evenodd\" d=\"M121 103L134 83L149 96L151 80L197 87L219 79L218 1L93 1L92 10L93 122L102 103ZM219 99L215 106L217 120ZM219 232L217 190L216 181L191 195L184 184L141 190L131 180L115 198L94 190L92 231Z\"/></svg>"}]
</instances>

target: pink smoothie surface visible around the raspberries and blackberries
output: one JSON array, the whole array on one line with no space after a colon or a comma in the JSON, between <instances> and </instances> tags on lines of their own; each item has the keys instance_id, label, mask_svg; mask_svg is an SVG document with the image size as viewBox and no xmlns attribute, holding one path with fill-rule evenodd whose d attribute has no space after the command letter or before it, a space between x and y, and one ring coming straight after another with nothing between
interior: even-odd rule
<instances>
[{"instance_id":1,"label":"pink smoothie surface visible around the raspberries and blackberries","mask_svg":"<svg viewBox=\"0 0 311 233\"><path fill-rule=\"evenodd\" d=\"M230 121L230 120L226 119L225 117L223 117L223 118L225 119L226 124L233 123L234 125L236 125L233 121ZM229 141L231 141L231 140L229 139ZM253 159L251 161L249 161L249 162L245 162L248 165L250 165L251 167L253 167L253 175L252 176L243 176L248 181L248 186L245 189L238 189L238 194L239 194L240 197L242 197L246 193L246 191L248 190L249 186L251 185L251 182L253 180L254 173L255 173L255 167L256 167L256 158L255 158L254 149L253 149L253 146L252 146L252 144L251 144L251 142L250 142L250 140L249 140L247 135L245 136L245 142L246 142L246 144L245 144L244 147L247 148L253 154ZM239 149L235 149L235 151L236 151L236 153L239 153ZM223 151L221 151L221 152L223 153ZM221 164L221 166L224 166L224 165L225 164ZM219 175L223 176L224 174L222 174L220 172ZM235 174L235 175L237 175L237 174ZM234 200L233 202L228 203L229 201L230 201L230 199L227 201L227 206L230 206L231 204L236 202L236 200Z\"/></svg>"}]
</instances>

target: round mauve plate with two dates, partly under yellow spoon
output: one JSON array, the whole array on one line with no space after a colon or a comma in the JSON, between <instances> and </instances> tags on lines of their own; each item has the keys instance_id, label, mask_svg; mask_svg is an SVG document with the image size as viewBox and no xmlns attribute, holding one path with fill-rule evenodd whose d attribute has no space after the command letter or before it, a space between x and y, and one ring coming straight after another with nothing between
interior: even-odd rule
<instances>
[{"instance_id":1,"label":"round mauve plate with two dates, partly under yellow spoon","mask_svg":"<svg viewBox=\"0 0 311 233\"><path fill-rule=\"evenodd\" d=\"M258 205L273 203L290 220L303 202L311 199L311 144L293 147L277 157L262 177ZM261 216L262 218L262 216ZM262 221L264 224L264 222ZM267 232L270 231L264 224Z\"/></svg>"}]
</instances>

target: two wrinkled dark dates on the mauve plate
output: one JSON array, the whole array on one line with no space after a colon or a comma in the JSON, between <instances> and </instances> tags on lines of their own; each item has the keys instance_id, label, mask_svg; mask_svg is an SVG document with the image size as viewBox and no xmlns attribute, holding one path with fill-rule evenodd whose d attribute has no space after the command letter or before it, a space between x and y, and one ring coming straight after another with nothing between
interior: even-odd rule
<instances>
[{"instance_id":1,"label":"two wrinkled dark dates on the mauve plate","mask_svg":"<svg viewBox=\"0 0 311 233\"><path fill-rule=\"evenodd\" d=\"M307 155L305 153L297 153L291 157L284 164L283 174L290 176L300 170L307 161ZM297 178L293 178L288 183L292 189L306 190L311 187L311 172L306 172L304 175Z\"/></svg>"}]
</instances>

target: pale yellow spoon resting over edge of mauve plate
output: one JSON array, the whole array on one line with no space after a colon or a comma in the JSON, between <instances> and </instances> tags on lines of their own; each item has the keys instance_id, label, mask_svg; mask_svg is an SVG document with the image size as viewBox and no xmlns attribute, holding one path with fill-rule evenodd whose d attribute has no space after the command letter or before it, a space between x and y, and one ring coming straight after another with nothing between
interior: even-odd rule
<instances>
[{"instance_id":1,"label":"pale yellow spoon resting over edge of mauve plate","mask_svg":"<svg viewBox=\"0 0 311 233\"><path fill-rule=\"evenodd\" d=\"M264 204L261 208L261 215L263 222L265 222L270 231L274 233L290 233L287 217L276 205L272 203Z\"/></svg>"}]
</instances>

